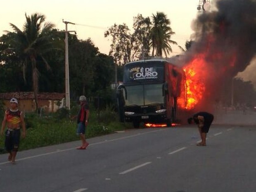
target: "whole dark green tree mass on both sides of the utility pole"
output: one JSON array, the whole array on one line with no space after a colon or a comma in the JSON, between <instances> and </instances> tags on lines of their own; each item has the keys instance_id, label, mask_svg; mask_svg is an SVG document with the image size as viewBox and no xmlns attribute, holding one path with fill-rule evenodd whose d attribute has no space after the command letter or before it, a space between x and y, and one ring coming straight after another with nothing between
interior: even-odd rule
<instances>
[{"instance_id":1,"label":"whole dark green tree mass on both sides of the utility pole","mask_svg":"<svg viewBox=\"0 0 256 192\"><path fill-rule=\"evenodd\" d=\"M28 80L25 83L22 77L23 59L6 52L10 40L6 37L11 34L13 33L9 32L0 37L0 55L3 63L0 65L0 92L31 91L31 63L27 62L26 65L25 74ZM52 49L44 55L51 70L47 70L44 65L37 66L40 71L38 87L41 92L65 92L65 33L52 29L49 34L52 44L58 45L59 48ZM114 81L113 57L101 54L90 39L78 40L76 35L68 35L71 100L76 101L80 95L95 97L99 90L109 92ZM37 63L41 62L42 59L38 58ZM119 78L121 79L121 75ZM109 98L109 94L103 94L103 97L105 96Z\"/></svg>"}]
</instances>

